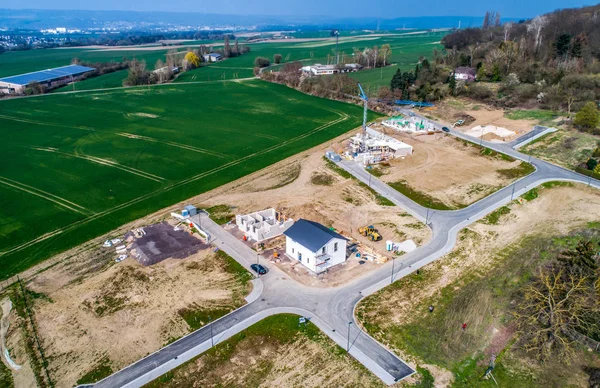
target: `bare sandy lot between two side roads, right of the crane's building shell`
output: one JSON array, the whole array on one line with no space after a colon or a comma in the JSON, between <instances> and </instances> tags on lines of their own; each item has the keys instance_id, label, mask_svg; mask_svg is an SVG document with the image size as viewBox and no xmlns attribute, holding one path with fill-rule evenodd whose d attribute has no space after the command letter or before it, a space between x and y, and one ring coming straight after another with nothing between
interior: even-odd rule
<instances>
[{"instance_id":1,"label":"bare sandy lot between two side roads, right of the crane's building shell","mask_svg":"<svg viewBox=\"0 0 600 388\"><path fill-rule=\"evenodd\" d=\"M412 155L392 160L389 168L381 167L385 175L380 179L385 182L404 180L413 189L451 206L471 204L508 185L512 180L497 171L520 164L483 156L478 148L441 133L410 135L382 126L377 129L414 149Z\"/></svg>"}]
</instances>

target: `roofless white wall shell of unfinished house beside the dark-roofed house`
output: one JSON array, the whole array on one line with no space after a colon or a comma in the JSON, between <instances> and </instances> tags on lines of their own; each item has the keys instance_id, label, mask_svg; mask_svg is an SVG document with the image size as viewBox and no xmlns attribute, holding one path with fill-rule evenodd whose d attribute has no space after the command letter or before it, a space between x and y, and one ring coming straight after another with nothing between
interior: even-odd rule
<instances>
[{"instance_id":1,"label":"roofless white wall shell of unfinished house beside the dark-roofed house","mask_svg":"<svg viewBox=\"0 0 600 388\"><path fill-rule=\"evenodd\" d=\"M266 209L251 214L236 215L235 223L249 239L259 242L282 235L294 224L294 220L285 218L275 209Z\"/></svg>"}]
</instances>

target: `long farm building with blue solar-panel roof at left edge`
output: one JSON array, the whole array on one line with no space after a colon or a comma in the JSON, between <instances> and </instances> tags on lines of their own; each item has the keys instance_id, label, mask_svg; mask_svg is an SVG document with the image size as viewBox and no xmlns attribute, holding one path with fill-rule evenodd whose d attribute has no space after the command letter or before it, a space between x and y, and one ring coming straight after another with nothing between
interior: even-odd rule
<instances>
[{"instance_id":1,"label":"long farm building with blue solar-panel roof at left edge","mask_svg":"<svg viewBox=\"0 0 600 388\"><path fill-rule=\"evenodd\" d=\"M79 80L84 74L96 70L93 67L69 65L55 69L40 70L33 73L13 75L0 78L1 94L22 94L30 84L37 82L42 86L52 89L69 82Z\"/></svg>"}]
</instances>

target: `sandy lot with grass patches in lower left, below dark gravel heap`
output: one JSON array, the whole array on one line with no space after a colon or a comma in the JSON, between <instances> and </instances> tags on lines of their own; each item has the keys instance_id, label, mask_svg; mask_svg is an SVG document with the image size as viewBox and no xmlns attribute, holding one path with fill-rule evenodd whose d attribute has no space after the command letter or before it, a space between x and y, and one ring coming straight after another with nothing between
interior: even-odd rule
<instances>
[{"instance_id":1,"label":"sandy lot with grass patches in lower left, below dark gravel heap","mask_svg":"<svg viewBox=\"0 0 600 388\"><path fill-rule=\"evenodd\" d=\"M84 278L60 265L28 287L51 299L36 300L34 311L57 387L72 386L104 357L118 370L187 334L178 310L237 307L247 291L210 250L151 267L130 258Z\"/></svg>"}]
</instances>

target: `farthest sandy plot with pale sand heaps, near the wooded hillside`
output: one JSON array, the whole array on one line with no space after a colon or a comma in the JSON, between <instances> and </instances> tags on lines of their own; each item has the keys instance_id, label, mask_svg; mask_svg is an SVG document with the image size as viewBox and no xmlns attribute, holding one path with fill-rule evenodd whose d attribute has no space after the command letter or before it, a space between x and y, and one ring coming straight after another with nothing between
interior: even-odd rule
<instances>
[{"instance_id":1,"label":"farthest sandy plot with pale sand heaps, near the wooded hillside","mask_svg":"<svg viewBox=\"0 0 600 388\"><path fill-rule=\"evenodd\" d=\"M483 139L488 141L511 141L531 131L537 125L536 120L511 120L504 117L502 109L457 98L442 101L434 108L424 109L422 113L440 119L448 126L457 121L457 114L467 114L473 117L475 121L472 123L455 128L463 132L469 132L477 126L496 126L514 132L512 136L506 132L501 135L484 134Z\"/></svg>"}]
</instances>

